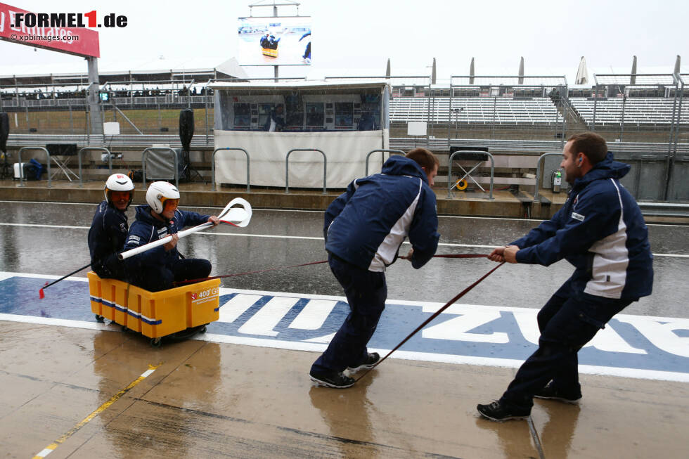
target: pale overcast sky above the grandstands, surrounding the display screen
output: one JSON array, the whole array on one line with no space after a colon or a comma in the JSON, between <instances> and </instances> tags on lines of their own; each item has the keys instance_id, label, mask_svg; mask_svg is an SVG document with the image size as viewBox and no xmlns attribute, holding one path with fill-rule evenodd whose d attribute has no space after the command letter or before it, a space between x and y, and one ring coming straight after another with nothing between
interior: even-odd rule
<instances>
[{"instance_id":1,"label":"pale overcast sky above the grandstands, surrounding the display screen","mask_svg":"<svg viewBox=\"0 0 689 459\"><path fill-rule=\"evenodd\" d=\"M4 0L40 13L86 13L94 1ZM236 56L238 16L249 14L240 1L132 1L95 6L105 13L127 15L122 29L99 29L101 60L134 58ZM281 7L281 15L295 8ZM271 15L272 8L254 8L254 15ZM579 58L589 67L614 67L629 72L632 56L640 71L674 65L676 55L689 68L686 32L689 2L667 1L444 1L444 0L304 0L300 15L313 17L313 65L282 67L281 76L383 75L387 58L397 75L427 75L437 59L439 78L466 75L475 57L477 74L501 70L515 74L524 56L526 74L536 69L567 68L576 72ZM34 51L29 46L0 41L0 74L13 65L74 63L81 58ZM123 69L124 70L124 69ZM271 76L271 67L248 67L254 76Z\"/></svg>"}]
</instances>

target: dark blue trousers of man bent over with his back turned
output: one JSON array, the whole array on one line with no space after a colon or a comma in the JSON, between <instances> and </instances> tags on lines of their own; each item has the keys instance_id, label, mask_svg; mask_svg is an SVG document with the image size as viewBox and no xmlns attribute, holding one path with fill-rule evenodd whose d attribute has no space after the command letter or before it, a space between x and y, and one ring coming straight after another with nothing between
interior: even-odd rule
<instances>
[{"instance_id":1,"label":"dark blue trousers of man bent over with his back turned","mask_svg":"<svg viewBox=\"0 0 689 459\"><path fill-rule=\"evenodd\" d=\"M368 355L371 340L387 299L385 273L374 273L328 256L330 271L345 289L349 315L328 344L328 349L311 366L316 372L345 370L358 366Z\"/></svg>"}]
</instances>

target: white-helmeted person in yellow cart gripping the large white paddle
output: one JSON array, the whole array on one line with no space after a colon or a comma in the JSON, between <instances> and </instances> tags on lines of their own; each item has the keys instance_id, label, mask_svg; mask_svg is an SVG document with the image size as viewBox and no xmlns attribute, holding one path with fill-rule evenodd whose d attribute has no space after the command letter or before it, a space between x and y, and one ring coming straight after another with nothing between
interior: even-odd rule
<instances>
[{"instance_id":1,"label":"white-helmeted person in yellow cart gripping the large white paddle","mask_svg":"<svg viewBox=\"0 0 689 459\"><path fill-rule=\"evenodd\" d=\"M129 228L124 250L168 235L172 235L172 240L128 258L129 281L150 292L158 292L172 288L175 282L207 278L211 270L210 261L181 257L176 247L179 239L176 233L186 226L198 226L207 221L217 225L218 217L178 209L179 190L165 181L150 184L146 202L147 205L136 207L136 220Z\"/></svg>"}]
</instances>

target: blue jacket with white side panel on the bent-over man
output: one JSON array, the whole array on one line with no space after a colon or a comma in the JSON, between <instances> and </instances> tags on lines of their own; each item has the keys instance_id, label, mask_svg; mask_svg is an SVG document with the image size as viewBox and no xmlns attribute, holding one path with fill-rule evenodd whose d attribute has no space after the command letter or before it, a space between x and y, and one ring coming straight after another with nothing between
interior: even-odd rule
<instances>
[{"instance_id":1,"label":"blue jacket with white side panel on the bent-over man","mask_svg":"<svg viewBox=\"0 0 689 459\"><path fill-rule=\"evenodd\" d=\"M408 235L419 269L438 247L435 194L417 162L393 156L382 173L349 183L326 210L326 250L368 271L385 271Z\"/></svg>"}]
</instances>

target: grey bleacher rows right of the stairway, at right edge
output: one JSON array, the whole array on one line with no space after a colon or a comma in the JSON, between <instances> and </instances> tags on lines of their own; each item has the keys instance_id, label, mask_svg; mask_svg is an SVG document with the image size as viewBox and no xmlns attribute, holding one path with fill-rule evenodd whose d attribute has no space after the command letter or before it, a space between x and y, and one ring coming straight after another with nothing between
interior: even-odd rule
<instances>
[{"instance_id":1,"label":"grey bleacher rows right of the stairway, at right edge","mask_svg":"<svg viewBox=\"0 0 689 459\"><path fill-rule=\"evenodd\" d=\"M569 104L588 126L593 124L593 105L595 102L595 124L616 124L622 122L623 98L569 98ZM639 127L655 124L668 125L672 122L673 98L636 98L628 97L624 101L624 124ZM689 123L689 110L683 108L681 124Z\"/></svg>"}]
</instances>

